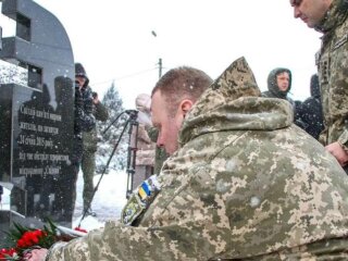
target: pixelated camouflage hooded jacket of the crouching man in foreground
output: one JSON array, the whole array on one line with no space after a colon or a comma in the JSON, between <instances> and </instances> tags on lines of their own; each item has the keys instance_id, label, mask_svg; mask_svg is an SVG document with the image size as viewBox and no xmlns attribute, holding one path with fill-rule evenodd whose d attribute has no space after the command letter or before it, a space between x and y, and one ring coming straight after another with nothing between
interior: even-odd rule
<instances>
[{"instance_id":1,"label":"pixelated camouflage hooded jacket of the crouching man in foreground","mask_svg":"<svg viewBox=\"0 0 348 261\"><path fill-rule=\"evenodd\" d=\"M142 215L55 245L49 260L347 259L345 172L291 124L287 101L259 95L235 61L186 116Z\"/></svg>"}]
</instances>

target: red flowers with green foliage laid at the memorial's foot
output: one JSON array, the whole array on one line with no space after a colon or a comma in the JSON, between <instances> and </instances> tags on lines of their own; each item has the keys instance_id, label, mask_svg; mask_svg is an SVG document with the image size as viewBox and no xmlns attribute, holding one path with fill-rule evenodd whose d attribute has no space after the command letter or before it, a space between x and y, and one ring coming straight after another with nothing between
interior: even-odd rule
<instances>
[{"instance_id":1,"label":"red flowers with green foliage laid at the memorial's foot","mask_svg":"<svg viewBox=\"0 0 348 261\"><path fill-rule=\"evenodd\" d=\"M49 249L57 241L70 241L87 233L86 229L74 229L57 226L48 220L41 229L13 223L13 228L7 233L7 247L0 249L0 260L23 260L26 252L38 249Z\"/></svg>"}]
</instances>

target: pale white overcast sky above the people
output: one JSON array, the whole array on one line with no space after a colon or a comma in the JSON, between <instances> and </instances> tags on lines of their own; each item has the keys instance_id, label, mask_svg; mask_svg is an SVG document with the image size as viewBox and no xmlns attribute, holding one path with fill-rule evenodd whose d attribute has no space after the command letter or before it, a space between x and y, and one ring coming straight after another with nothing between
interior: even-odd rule
<instances>
[{"instance_id":1,"label":"pale white overcast sky above the people","mask_svg":"<svg viewBox=\"0 0 348 261\"><path fill-rule=\"evenodd\" d=\"M309 96L320 34L295 20L288 0L35 0L63 24L75 62L102 96L114 80L126 109L163 73L189 65L216 78L244 55L261 90L269 72L293 72L293 98ZM151 32L156 32L154 36ZM9 36L3 28L3 36Z\"/></svg>"}]
</instances>

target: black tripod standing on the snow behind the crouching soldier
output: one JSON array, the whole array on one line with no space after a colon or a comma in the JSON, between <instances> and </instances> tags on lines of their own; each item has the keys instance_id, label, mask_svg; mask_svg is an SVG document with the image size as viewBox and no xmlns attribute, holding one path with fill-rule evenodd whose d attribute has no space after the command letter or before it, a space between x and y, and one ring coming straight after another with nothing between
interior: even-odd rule
<instances>
[{"instance_id":1,"label":"black tripod standing on the snow behind the crouching soldier","mask_svg":"<svg viewBox=\"0 0 348 261\"><path fill-rule=\"evenodd\" d=\"M114 153L115 153L115 151L116 151L116 149L117 149L117 147L119 147L119 145L120 145L120 141L121 141L121 139L122 139L122 137L123 137L123 135L124 135L124 133L125 133L125 130L126 130L126 128L127 128L127 126L128 126L129 123L130 123L130 127L129 127L129 132L128 132L128 133L129 133L129 140L128 140L127 173L128 173L128 177L129 177L130 173L134 174L134 170L135 170L135 157L136 157L136 149L137 149L137 148L135 147L135 151L133 151L133 148L130 149L130 134L132 134L132 132L133 132L133 130L132 130L133 127L136 125L136 137L138 136L138 122L137 122L138 111L135 111L135 110L124 111L124 112L122 112L122 113L116 117L116 120L117 120L122 114L124 114L124 113L127 113L127 114L129 115L129 119L128 119L128 120L126 121L126 123L124 124L124 127L123 127L123 129L122 129L122 132L121 132L121 134L120 134L120 136L119 136L119 139L117 139L117 141L116 141L116 144L115 144L115 146L114 146L114 148L113 148L113 150L112 150L112 152L111 152L111 154L110 154L110 157L109 157L109 160L108 160L108 162L107 162L107 165L105 165L104 169L102 170L102 173L101 173L101 175L100 175L100 178L99 178L99 181L98 181L98 183L97 183L97 185L96 185L96 187L95 187L95 189L94 189L94 192L92 192L92 196L91 196L91 200L90 200L90 202L88 203L87 208L84 210L83 216L82 216L82 219L80 219L77 227L80 227L80 223L82 223L83 220L86 217L87 212L88 212L88 209L90 208L90 204L91 204L91 202L92 202L92 200L94 200L94 197L95 197L95 195L96 195L96 192L97 192L97 190L98 190L98 187L99 187L99 185L100 185L100 182L101 182L103 175L105 174L105 172L107 172L107 170L108 170L108 167L109 167L109 164L110 164L110 162L111 162L111 159L112 159L112 157L114 156ZM115 123L116 120L113 121L112 124ZM112 124L111 124L111 125L112 125ZM111 127L111 125L110 125L105 130L108 130L108 129ZM105 133L105 130L103 132L103 134ZM135 144L135 145L136 145L136 144ZM133 169L130 169L130 156L129 156L129 152L130 152L130 151L134 153L134 158L132 158L132 160L133 160L133 161L132 161L132 166L133 166ZM133 181L133 174L132 174L132 181ZM128 187L128 179L127 179L127 187ZM132 189L132 185L130 185L130 189ZM128 190L127 190L127 191L128 191Z\"/></svg>"}]
</instances>

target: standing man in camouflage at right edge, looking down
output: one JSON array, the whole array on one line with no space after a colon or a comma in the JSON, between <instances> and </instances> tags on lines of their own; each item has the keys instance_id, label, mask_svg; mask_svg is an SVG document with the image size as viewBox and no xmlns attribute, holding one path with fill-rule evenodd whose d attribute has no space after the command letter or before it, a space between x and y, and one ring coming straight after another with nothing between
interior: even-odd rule
<instances>
[{"instance_id":1,"label":"standing man in camouflage at right edge, looking down","mask_svg":"<svg viewBox=\"0 0 348 261\"><path fill-rule=\"evenodd\" d=\"M290 0L295 18L323 33L316 65L324 130L320 141L348 173L348 1Z\"/></svg>"}]
</instances>

